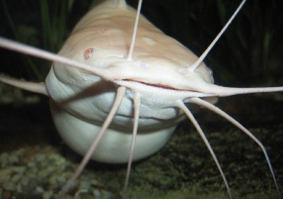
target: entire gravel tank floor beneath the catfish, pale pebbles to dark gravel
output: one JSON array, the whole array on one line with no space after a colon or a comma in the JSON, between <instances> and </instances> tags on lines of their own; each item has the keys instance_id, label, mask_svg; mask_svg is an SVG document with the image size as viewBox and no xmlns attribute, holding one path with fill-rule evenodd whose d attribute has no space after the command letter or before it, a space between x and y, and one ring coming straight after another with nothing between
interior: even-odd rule
<instances>
[{"instance_id":1,"label":"entire gravel tank floor beneath the catfish, pale pebbles to dark gravel","mask_svg":"<svg viewBox=\"0 0 283 199\"><path fill-rule=\"evenodd\" d=\"M267 142L279 187L282 188L282 126L271 130L252 129ZM277 198L274 182L260 149L238 131L214 131L209 138L232 188L234 198ZM233 137L229 136L233 135ZM234 139L238 140L236 144ZM226 144L224 144L226 142ZM76 154L64 156L52 145L21 147L0 154L0 198L57 198L57 193L79 163ZM66 198L121 198L126 166L91 162ZM200 137L179 132L154 157L134 164L129 197L228 198L224 183Z\"/></svg>"}]
</instances>

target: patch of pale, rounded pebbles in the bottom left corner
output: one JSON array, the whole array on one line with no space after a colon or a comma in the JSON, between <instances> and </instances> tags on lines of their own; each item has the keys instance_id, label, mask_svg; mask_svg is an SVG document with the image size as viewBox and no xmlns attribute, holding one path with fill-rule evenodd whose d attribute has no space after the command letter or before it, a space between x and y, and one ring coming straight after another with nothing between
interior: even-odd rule
<instances>
[{"instance_id":1,"label":"patch of pale, rounded pebbles in the bottom left corner","mask_svg":"<svg viewBox=\"0 0 283 199\"><path fill-rule=\"evenodd\" d=\"M22 147L0 155L0 198L56 198L75 165L52 147ZM90 180L91 179L91 180ZM13 197L12 197L13 196ZM66 198L115 198L93 173L84 171Z\"/></svg>"}]
</instances>

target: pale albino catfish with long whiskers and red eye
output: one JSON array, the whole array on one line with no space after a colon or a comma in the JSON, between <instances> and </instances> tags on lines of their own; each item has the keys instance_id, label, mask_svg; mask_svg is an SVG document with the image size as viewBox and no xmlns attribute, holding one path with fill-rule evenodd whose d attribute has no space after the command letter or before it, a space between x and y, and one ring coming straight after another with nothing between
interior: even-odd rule
<instances>
[{"instance_id":1,"label":"pale albino catfish with long whiskers and red eye","mask_svg":"<svg viewBox=\"0 0 283 199\"><path fill-rule=\"evenodd\" d=\"M265 147L214 103L216 97L283 91L283 86L217 86L212 71L202 62L245 2L200 57L139 16L141 0L137 11L125 0L103 1L79 21L57 55L0 38L1 47L53 62L45 83L4 75L0 81L48 96L59 134L83 155L59 198L69 191L89 159L128 163L123 192L126 198L132 161L161 149L185 116L204 140L232 198L224 171L190 111L195 105L221 115L260 146L281 198Z\"/></svg>"}]
</instances>

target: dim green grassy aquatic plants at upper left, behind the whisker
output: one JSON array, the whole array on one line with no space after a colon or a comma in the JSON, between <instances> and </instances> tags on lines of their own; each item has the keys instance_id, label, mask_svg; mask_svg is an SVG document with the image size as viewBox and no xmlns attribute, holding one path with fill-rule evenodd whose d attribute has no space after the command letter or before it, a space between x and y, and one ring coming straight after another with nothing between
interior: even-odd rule
<instances>
[{"instance_id":1,"label":"dim green grassy aquatic plants at upper left, behind the whisker","mask_svg":"<svg viewBox=\"0 0 283 199\"><path fill-rule=\"evenodd\" d=\"M67 24L74 8L74 0L28 2L2 0L1 4L3 9L1 25L4 27L1 31L2 36L57 52L70 33ZM16 57L18 60L23 60L23 62L20 61L21 67L26 72L23 76L44 81L50 69L49 62L25 55L16 55ZM10 60L8 65L4 64L4 67L13 66L14 61ZM12 69L17 71L21 70L21 67L16 64L16 67Z\"/></svg>"}]
</instances>

